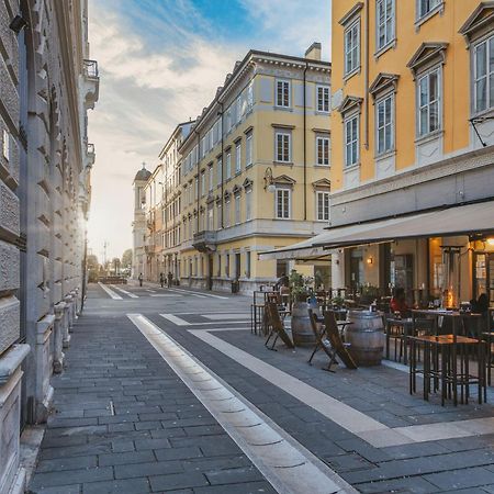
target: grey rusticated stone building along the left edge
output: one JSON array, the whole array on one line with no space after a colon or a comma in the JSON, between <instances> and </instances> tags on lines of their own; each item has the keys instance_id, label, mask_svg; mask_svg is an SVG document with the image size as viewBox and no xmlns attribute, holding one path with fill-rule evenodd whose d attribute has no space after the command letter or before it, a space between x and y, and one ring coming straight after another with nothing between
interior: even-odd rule
<instances>
[{"instance_id":1,"label":"grey rusticated stone building along the left edge","mask_svg":"<svg viewBox=\"0 0 494 494\"><path fill-rule=\"evenodd\" d=\"M0 3L0 492L23 492L21 430L45 422L80 311L99 92L87 0Z\"/></svg>"}]
</instances>

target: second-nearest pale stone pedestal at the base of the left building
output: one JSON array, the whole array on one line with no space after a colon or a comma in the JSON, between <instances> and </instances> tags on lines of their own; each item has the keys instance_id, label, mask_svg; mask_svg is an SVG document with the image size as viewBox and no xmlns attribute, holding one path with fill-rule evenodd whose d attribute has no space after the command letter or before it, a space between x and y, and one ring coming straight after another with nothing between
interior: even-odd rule
<instances>
[{"instance_id":1,"label":"second-nearest pale stone pedestal at the base of the left building","mask_svg":"<svg viewBox=\"0 0 494 494\"><path fill-rule=\"evenodd\" d=\"M34 396L36 401L36 423L44 423L48 418L53 402L53 388L49 379L53 371L53 353L50 352L50 339L55 315L48 314L36 323L36 383Z\"/></svg>"}]
</instances>

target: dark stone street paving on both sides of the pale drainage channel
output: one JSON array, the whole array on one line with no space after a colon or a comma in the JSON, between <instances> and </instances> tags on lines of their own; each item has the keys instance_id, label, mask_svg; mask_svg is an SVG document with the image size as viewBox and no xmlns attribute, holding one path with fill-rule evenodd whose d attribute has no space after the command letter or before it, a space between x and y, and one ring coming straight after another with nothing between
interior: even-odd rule
<instances>
[{"instance_id":1,"label":"dark stone street paving on both sides of the pale drainage channel","mask_svg":"<svg viewBox=\"0 0 494 494\"><path fill-rule=\"evenodd\" d=\"M142 314L360 492L494 493L492 404L424 402L400 367L328 373L322 352L311 367L308 349L268 351L250 334L248 297L110 291L121 299L91 287L67 369L53 380L33 493L276 492L127 314Z\"/></svg>"}]
</instances>

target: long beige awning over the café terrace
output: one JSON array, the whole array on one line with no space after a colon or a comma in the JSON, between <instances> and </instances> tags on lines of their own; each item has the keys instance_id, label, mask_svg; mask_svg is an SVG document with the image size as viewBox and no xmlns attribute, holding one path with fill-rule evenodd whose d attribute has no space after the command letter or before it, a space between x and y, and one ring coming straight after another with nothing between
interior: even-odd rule
<instances>
[{"instance_id":1,"label":"long beige awning over the caf\u00e9 terrace","mask_svg":"<svg viewBox=\"0 0 494 494\"><path fill-rule=\"evenodd\" d=\"M259 259L307 259L328 249L405 238L494 234L494 201L328 228L313 238L262 252Z\"/></svg>"}]
</instances>

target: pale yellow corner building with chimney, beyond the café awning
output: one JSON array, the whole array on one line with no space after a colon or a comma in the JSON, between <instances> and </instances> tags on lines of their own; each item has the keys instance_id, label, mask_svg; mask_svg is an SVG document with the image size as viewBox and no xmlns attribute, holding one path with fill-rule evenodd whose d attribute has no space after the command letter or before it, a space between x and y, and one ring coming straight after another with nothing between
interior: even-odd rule
<instances>
[{"instance_id":1,"label":"pale yellow corner building with chimney, beyond the caf\u00e9 awning","mask_svg":"<svg viewBox=\"0 0 494 494\"><path fill-rule=\"evenodd\" d=\"M179 148L182 284L250 292L289 269L258 252L327 224L329 100L317 43L305 58L251 50L226 76Z\"/></svg>"}]
</instances>

